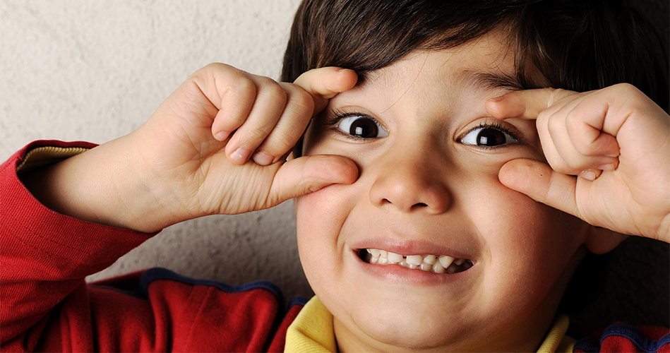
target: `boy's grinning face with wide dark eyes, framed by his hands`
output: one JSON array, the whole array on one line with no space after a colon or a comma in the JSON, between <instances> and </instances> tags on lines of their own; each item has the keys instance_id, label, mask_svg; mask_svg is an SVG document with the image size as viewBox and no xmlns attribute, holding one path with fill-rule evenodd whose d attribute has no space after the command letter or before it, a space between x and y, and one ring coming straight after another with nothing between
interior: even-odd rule
<instances>
[{"instance_id":1,"label":"boy's grinning face with wide dark eyes, framed by his hands","mask_svg":"<svg viewBox=\"0 0 670 353\"><path fill-rule=\"evenodd\" d=\"M330 100L307 131L306 155L344 155L360 170L352 185L296 200L301 261L340 349L542 341L587 225L498 181L509 160L544 160L534 121L484 108L513 89L502 38L412 53ZM426 265L380 265L366 249ZM455 261L439 273L431 255Z\"/></svg>"}]
</instances>

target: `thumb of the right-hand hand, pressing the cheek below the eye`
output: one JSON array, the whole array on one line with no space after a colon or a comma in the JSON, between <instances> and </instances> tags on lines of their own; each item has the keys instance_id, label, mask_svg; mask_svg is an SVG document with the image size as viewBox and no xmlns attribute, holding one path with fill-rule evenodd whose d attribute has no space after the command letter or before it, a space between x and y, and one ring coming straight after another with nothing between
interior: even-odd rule
<instances>
[{"instance_id":1,"label":"thumb of the right-hand hand, pressing the cheek below the eye","mask_svg":"<svg viewBox=\"0 0 670 353\"><path fill-rule=\"evenodd\" d=\"M498 179L534 201L582 218L575 198L577 177L556 172L542 162L518 159L503 164Z\"/></svg>"}]
</instances>

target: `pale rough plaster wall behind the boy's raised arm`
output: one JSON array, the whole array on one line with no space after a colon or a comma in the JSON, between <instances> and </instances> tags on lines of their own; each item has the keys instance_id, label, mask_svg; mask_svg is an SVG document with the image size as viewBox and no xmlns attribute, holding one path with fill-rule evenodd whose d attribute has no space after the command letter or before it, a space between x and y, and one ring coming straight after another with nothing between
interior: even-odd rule
<instances>
[{"instance_id":1,"label":"pale rough plaster wall behind the boy's raised arm","mask_svg":"<svg viewBox=\"0 0 670 353\"><path fill-rule=\"evenodd\" d=\"M36 139L104 143L125 135L213 61L278 78L298 3L0 0L0 159ZM93 277L152 266L310 293L292 202L170 227Z\"/></svg>"}]
</instances>

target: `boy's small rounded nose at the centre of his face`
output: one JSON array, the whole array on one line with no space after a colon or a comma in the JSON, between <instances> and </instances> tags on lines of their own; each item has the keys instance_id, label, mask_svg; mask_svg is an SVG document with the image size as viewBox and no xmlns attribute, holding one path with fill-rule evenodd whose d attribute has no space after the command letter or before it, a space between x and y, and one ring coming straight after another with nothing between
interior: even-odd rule
<instances>
[{"instance_id":1,"label":"boy's small rounded nose at the centre of his face","mask_svg":"<svg viewBox=\"0 0 670 353\"><path fill-rule=\"evenodd\" d=\"M445 213L452 196L445 182L446 166L441 162L428 155L417 157L407 150L381 158L371 171L376 174L370 189L371 203L403 213Z\"/></svg>"}]
</instances>

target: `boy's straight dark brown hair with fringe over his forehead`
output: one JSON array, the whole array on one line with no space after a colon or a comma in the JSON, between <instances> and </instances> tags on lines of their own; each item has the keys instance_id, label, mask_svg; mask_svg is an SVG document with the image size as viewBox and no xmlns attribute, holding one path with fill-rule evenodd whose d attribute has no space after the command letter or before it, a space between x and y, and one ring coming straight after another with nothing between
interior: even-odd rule
<instances>
[{"instance_id":1,"label":"boy's straight dark brown hair with fringe over his forehead","mask_svg":"<svg viewBox=\"0 0 670 353\"><path fill-rule=\"evenodd\" d=\"M527 64L554 88L586 91L630 83L669 109L668 58L658 33L616 0L305 0L282 80L340 66L365 73L417 49L455 47L498 26L510 33L518 81Z\"/></svg>"}]
</instances>

